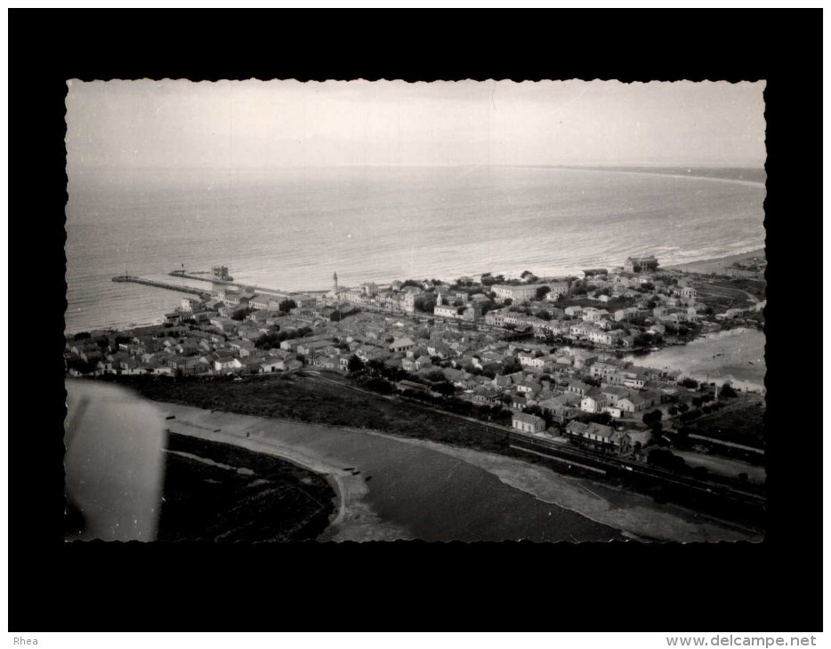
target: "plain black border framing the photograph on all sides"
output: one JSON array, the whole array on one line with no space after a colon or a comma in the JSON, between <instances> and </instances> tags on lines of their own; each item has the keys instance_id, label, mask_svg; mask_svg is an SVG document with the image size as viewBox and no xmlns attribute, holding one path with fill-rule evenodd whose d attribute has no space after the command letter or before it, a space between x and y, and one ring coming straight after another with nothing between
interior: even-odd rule
<instances>
[{"instance_id":1,"label":"plain black border framing the photograph on all sides","mask_svg":"<svg viewBox=\"0 0 831 649\"><path fill-rule=\"evenodd\" d=\"M821 318L800 316L794 292L808 287L811 305L820 293L820 10L10 10L9 19L10 630L822 628L820 404L806 413L785 404L797 388L821 394ZM766 79L767 540L63 543L59 278L72 77ZM22 286L34 302L15 299ZM804 337L797 321L811 323Z\"/></svg>"}]
</instances>

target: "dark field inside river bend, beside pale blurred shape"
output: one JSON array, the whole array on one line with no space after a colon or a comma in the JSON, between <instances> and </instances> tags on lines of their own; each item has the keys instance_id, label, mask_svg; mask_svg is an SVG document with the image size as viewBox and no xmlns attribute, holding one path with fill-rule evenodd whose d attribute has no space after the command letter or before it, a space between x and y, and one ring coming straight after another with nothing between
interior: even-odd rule
<instances>
[{"instance_id":1,"label":"dark field inside river bend, beside pale blurred shape","mask_svg":"<svg viewBox=\"0 0 831 649\"><path fill-rule=\"evenodd\" d=\"M158 541L303 541L335 490L306 469L238 446L170 434Z\"/></svg>"}]
</instances>

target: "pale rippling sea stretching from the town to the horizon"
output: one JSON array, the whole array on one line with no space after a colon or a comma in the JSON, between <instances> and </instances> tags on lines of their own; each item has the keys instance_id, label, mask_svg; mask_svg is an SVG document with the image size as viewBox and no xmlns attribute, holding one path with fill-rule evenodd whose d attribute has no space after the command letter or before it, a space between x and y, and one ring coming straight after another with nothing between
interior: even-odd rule
<instances>
[{"instance_id":1,"label":"pale rippling sea stretching from the town to the horizon","mask_svg":"<svg viewBox=\"0 0 831 649\"><path fill-rule=\"evenodd\" d=\"M764 245L758 169L510 166L70 170L68 333L157 322L174 269L286 291L483 272L663 266Z\"/></svg>"}]
</instances>

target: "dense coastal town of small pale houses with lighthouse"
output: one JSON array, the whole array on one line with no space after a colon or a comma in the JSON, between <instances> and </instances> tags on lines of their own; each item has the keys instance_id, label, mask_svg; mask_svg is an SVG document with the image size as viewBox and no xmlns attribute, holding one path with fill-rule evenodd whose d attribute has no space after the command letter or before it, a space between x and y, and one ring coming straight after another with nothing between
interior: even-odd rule
<instances>
[{"instance_id":1,"label":"dense coastal town of small pale houses with lighthouse","mask_svg":"<svg viewBox=\"0 0 831 649\"><path fill-rule=\"evenodd\" d=\"M761 394L622 356L739 324L761 328L763 269L760 258L707 276L660 268L649 256L570 276L525 271L358 287L339 284L335 273L331 290L302 294L246 290L219 266L211 271L219 290L182 298L163 324L69 335L66 363L73 376L313 373L551 448L762 483L742 470L761 464L761 440L733 437L718 423L748 409L761 421ZM696 428L708 419L713 425Z\"/></svg>"}]
</instances>

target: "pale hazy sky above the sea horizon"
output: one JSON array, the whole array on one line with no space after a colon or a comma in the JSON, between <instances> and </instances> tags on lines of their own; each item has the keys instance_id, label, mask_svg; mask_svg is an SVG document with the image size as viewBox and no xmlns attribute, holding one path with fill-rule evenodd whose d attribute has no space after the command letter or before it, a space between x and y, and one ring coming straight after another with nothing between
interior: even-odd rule
<instances>
[{"instance_id":1,"label":"pale hazy sky above the sea horizon","mask_svg":"<svg viewBox=\"0 0 831 649\"><path fill-rule=\"evenodd\" d=\"M761 167L764 82L68 82L68 169Z\"/></svg>"}]
</instances>

